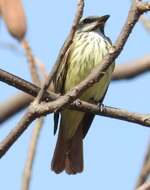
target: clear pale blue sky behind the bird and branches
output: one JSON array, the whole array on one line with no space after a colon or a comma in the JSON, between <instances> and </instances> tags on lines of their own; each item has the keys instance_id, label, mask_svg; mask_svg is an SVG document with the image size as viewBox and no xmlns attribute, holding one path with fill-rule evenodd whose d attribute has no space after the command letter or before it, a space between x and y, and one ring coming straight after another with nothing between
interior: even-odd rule
<instances>
[{"instance_id":1,"label":"clear pale blue sky behind the bird and branches","mask_svg":"<svg viewBox=\"0 0 150 190\"><path fill-rule=\"evenodd\" d=\"M110 14L106 34L115 42L127 17L130 1L85 1L84 16ZM27 39L34 54L50 71L58 51L66 38L76 9L76 0L25 1L28 20ZM30 80L26 58L20 45L12 39L0 21L0 68ZM137 24L126 46L116 60L126 63L150 52L150 36ZM17 49L9 49L6 44ZM149 73L131 81L111 83L104 103L129 111L149 113ZM0 82L0 102L19 91ZM0 110L2 111L2 110ZM15 127L23 113L4 123L0 128L0 140ZM32 124L8 153L0 160L1 189L20 190L21 177ZM50 162L56 137L53 136L52 115L47 116L38 144L30 190L94 189L132 190L142 166L148 145L149 129L115 119L96 117L84 141L85 169L82 174L68 176L54 174Z\"/></svg>"}]
</instances>

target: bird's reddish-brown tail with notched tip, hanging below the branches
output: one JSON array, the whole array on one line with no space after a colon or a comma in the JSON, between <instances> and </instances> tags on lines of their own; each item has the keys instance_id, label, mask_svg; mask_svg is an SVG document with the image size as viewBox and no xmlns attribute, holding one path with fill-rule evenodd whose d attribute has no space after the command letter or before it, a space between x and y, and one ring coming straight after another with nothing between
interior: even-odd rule
<instances>
[{"instance_id":1,"label":"bird's reddish-brown tail with notched tip, hanging below the branches","mask_svg":"<svg viewBox=\"0 0 150 190\"><path fill-rule=\"evenodd\" d=\"M61 173L65 170L68 174L76 174L83 171L83 140L81 127L77 129L71 140L66 141L63 135L63 127L60 125L51 169L55 173Z\"/></svg>"}]
</instances>

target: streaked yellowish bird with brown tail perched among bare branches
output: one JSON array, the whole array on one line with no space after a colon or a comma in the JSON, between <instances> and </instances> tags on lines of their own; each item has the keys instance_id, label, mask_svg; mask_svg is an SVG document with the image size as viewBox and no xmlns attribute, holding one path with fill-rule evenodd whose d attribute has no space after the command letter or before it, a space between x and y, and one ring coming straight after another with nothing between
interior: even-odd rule
<instances>
[{"instance_id":1,"label":"streaked yellowish bird with brown tail perched among bare branches","mask_svg":"<svg viewBox=\"0 0 150 190\"><path fill-rule=\"evenodd\" d=\"M73 42L66 51L53 79L54 91L65 94L102 63L112 48L111 40L105 35L105 24L110 15L88 16L80 20ZM103 78L85 90L79 99L102 104L108 89L115 63L105 72ZM83 164L83 140L92 124L94 114L64 108L54 114L54 133L58 125L58 139L51 162L51 169L59 174L81 173Z\"/></svg>"}]
</instances>

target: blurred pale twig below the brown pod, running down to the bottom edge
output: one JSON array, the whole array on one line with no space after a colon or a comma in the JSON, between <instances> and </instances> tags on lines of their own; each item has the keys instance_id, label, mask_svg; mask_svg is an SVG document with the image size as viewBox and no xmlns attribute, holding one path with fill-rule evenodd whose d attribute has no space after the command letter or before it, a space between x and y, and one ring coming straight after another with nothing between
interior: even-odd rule
<instances>
[{"instance_id":1,"label":"blurred pale twig below the brown pod, running down to the bottom edge","mask_svg":"<svg viewBox=\"0 0 150 190\"><path fill-rule=\"evenodd\" d=\"M40 86L41 80L38 74L36 60L32 53L32 49L30 48L29 43L26 40L23 40L22 45L29 62L29 70L31 73L32 82ZM27 156L25 166L24 166L24 171L23 171L22 190L29 190L29 187L30 187L32 168L33 168L33 164L34 164L34 160L36 156L36 148L37 148L37 143L39 140L39 135L43 127L43 122L44 122L44 118L39 118L35 122L35 127L32 132L32 138L30 140L28 156Z\"/></svg>"}]
</instances>

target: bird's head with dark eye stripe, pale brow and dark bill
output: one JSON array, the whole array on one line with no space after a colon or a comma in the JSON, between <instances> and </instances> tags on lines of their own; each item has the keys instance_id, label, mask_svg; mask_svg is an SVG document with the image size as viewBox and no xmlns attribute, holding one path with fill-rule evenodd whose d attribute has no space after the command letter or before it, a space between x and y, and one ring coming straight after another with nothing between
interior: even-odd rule
<instances>
[{"instance_id":1,"label":"bird's head with dark eye stripe, pale brow and dark bill","mask_svg":"<svg viewBox=\"0 0 150 190\"><path fill-rule=\"evenodd\" d=\"M84 19L81 19L79 25L78 25L78 31L79 32L91 32L95 30L100 30L102 33L104 33L104 27L105 23L108 20L110 15L104 15L104 16L89 16Z\"/></svg>"}]
</instances>

